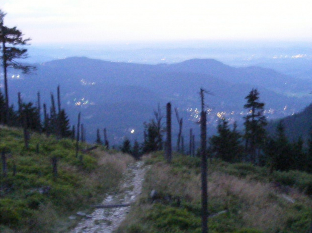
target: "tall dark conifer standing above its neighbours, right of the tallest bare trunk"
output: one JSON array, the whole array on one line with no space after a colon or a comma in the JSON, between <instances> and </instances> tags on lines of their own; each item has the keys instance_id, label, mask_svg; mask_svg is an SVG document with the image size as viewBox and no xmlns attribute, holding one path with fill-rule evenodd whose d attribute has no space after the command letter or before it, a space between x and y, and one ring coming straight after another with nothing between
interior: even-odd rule
<instances>
[{"instance_id":1,"label":"tall dark conifer standing above its neighbours, right of the tallest bare trunk","mask_svg":"<svg viewBox=\"0 0 312 233\"><path fill-rule=\"evenodd\" d=\"M245 119L245 150L249 154L249 160L252 163L259 162L260 149L264 144L265 126L267 121L263 115L264 103L259 102L259 92L257 89L252 89L245 97L247 103L244 108L249 109L249 113Z\"/></svg>"}]
</instances>

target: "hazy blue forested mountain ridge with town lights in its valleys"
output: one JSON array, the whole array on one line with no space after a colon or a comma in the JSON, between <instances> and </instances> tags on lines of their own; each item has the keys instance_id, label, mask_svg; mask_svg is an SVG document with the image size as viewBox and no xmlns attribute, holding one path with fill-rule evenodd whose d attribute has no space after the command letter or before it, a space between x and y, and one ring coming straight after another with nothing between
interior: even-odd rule
<instances>
[{"instance_id":1,"label":"hazy blue forested mountain ridge with town lights in its valleys","mask_svg":"<svg viewBox=\"0 0 312 233\"><path fill-rule=\"evenodd\" d=\"M199 107L200 87L214 93L207 96L207 104L212 108L211 128L215 128L218 111L235 112L228 118L242 119L240 112L244 110L244 98L252 88L258 88L267 109L279 112L276 117L299 111L311 102L310 97L299 99L281 94L297 91L298 85L308 88L306 82L300 84L302 80L260 67L230 67L214 59L148 65L71 57L37 64L37 67L36 74L9 80L11 103L16 105L17 92L22 93L25 101L35 102L37 91L40 91L41 102L49 105L50 92L55 93L59 84L62 106L68 109L73 122L77 112L82 111L85 126L90 128L87 139L91 141L95 138L96 128L103 127L115 132L116 142L124 136L141 138L143 122L152 118L153 108L158 103L165 106L168 101L181 111L185 132L190 127L196 130L193 123L196 114L191 111ZM288 85L289 82L292 85ZM276 89L278 93L273 91ZM78 100L81 105L77 105ZM288 113L283 110L285 106ZM130 134L129 129L136 129L137 135Z\"/></svg>"}]
</instances>

